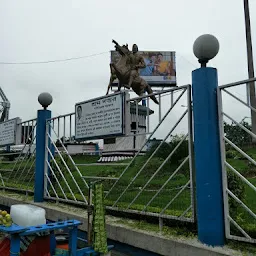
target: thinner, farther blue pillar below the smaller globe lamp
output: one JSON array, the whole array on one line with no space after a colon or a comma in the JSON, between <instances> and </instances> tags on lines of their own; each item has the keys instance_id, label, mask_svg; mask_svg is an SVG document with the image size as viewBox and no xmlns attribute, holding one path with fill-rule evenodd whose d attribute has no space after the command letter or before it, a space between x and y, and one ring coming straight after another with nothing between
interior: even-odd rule
<instances>
[{"instance_id":1,"label":"thinner, farther blue pillar below the smaller globe lamp","mask_svg":"<svg viewBox=\"0 0 256 256\"><path fill-rule=\"evenodd\" d=\"M46 120L51 118L50 110L38 110L36 127L36 170L35 170L35 202L44 200L44 166L45 166L45 133Z\"/></svg>"}]
</instances>

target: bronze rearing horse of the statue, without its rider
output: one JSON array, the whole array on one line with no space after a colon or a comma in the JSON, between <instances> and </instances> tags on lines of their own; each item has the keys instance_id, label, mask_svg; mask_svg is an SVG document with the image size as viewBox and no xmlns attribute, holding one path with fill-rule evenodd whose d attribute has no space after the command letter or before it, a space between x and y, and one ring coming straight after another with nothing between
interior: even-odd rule
<instances>
[{"instance_id":1,"label":"bronze rearing horse of the statue, without its rider","mask_svg":"<svg viewBox=\"0 0 256 256\"><path fill-rule=\"evenodd\" d=\"M115 40L112 40L112 42L115 43L115 48L118 51L118 53L121 55L121 58L116 64L115 63L110 64L111 76L110 76L106 95L108 95L109 89L116 78L119 80L118 91L121 90L122 86L130 89L128 86L128 82L129 82L130 72L132 67L131 67L131 64L129 63L129 56L130 54L132 54L132 52L129 51L128 45L120 46ZM148 83L139 75L136 76L135 79L133 80L131 84L131 88L138 96L143 96L145 91L148 94L153 93ZM156 104L159 104L155 95L151 95L150 98Z\"/></svg>"}]
</instances>

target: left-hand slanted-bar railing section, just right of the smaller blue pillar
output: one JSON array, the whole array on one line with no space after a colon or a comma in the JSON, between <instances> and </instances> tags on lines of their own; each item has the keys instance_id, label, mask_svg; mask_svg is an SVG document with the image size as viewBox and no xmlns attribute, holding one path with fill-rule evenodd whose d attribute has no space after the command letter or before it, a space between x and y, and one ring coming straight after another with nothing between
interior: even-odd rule
<instances>
[{"instance_id":1,"label":"left-hand slanted-bar railing section, just right of the smaller blue pillar","mask_svg":"<svg viewBox=\"0 0 256 256\"><path fill-rule=\"evenodd\" d=\"M46 127L46 159L45 159L45 198L55 200L74 200L87 204L84 189L89 188L86 181L82 178L79 168L76 166L72 157L68 153L65 143L65 119L69 117L72 122L72 113L58 118L52 118L47 121ZM64 129L62 139L60 138L60 119L64 119ZM54 129L54 122L57 120L57 132ZM72 126L70 125L70 134ZM57 141L53 138L57 138ZM71 136L69 137L71 141ZM61 152L59 147L63 148ZM58 159L58 160L57 160ZM58 193L60 192L60 193Z\"/></svg>"}]
</instances>

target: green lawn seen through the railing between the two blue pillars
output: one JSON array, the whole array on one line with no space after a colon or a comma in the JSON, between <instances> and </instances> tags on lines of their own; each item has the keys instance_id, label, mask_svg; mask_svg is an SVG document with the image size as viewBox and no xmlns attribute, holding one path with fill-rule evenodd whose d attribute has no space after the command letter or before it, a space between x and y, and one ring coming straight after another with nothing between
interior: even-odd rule
<instances>
[{"instance_id":1,"label":"green lawn seen through the railing between the two blue pillars","mask_svg":"<svg viewBox=\"0 0 256 256\"><path fill-rule=\"evenodd\" d=\"M76 164L88 164L95 163L97 161L97 157L92 156L74 156L73 160ZM118 163L124 164L129 161L120 161ZM112 206L113 203L117 200L117 198L121 195L121 193L127 188L127 185L131 183L133 177L138 173L138 170L144 165L146 159L143 156L137 157L137 159L128 167L125 174L120 178L112 191L105 198L106 205ZM154 197L157 191L163 186L166 180L170 177L170 175L176 170L178 165L172 165L167 163L163 166L161 171L149 182L149 184L142 191L143 186L146 182L152 177L154 172L160 167L163 163L163 159L153 158L149 163L145 166L145 168L141 171L141 173L137 176L137 178L132 182L124 193L124 195L120 198L117 205L119 208L127 208L128 205L132 202L135 196L140 193L137 199L133 202L133 204L129 207L134 210L142 210L146 204ZM87 196L88 189L86 188L83 179L80 177L79 172L74 168L70 161L68 161L68 165L72 172L74 179L76 180L78 186L81 188L82 193ZM126 168L124 165L120 166L108 166L108 165L78 165L79 171L82 176L100 176L100 177L119 177L123 170ZM81 193L78 189L78 186L74 182L70 173L66 170L64 166L62 166L62 170L65 170L65 178L70 186L71 190L75 194L78 200L82 199ZM58 170L56 170L58 172ZM184 165L181 170L174 175L174 177L164 186L162 187L161 192L154 198L154 200L149 204L146 211L153 212L161 212L163 208L167 206L167 204L177 195L177 193L181 190L181 188L188 182L189 176L188 165ZM70 190L60 175L58 176L59 183L61 187L65 191L66 195L69 198L72 198L72 194ZM89 182L89 179L85 179L86 182ZM103 181L104 189L106 193L113 186L115 180L106 180ZM59 188L57 182L55 184L55 189L59 195L62 195L61 189ZM53 191L51 191L53 194ZM62 195L63 196L63 195ZM191 202L190 197L190 189L186 188L184 191L166 208L165 214L175 212L175 215L180 216L189 206ZM191 214L188 212L188 215Z\"/></svg>"}]
</instances>

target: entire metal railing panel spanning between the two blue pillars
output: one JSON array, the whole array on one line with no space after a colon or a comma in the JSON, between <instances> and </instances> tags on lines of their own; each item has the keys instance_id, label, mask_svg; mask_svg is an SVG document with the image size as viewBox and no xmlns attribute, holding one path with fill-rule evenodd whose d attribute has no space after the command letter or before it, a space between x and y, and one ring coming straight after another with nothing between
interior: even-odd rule
<instances>
[{"instance_id":1,"label":"entire metal railing panel spanning between the two blue pillars","mask_svg":"<svg viewBox=\"0 0 256 256\"><path fill-rule=\"evenodd\" d=\"M49 119L45 198L86 205L88 184L100 180L105 189L105 204L110 210L194 221L190 85L154 95L160 99L159 105L153 103L151 106L150 95L127 100L135 106L132 118L136 121L136 129L121 138L124 143L141 139L135 143L137 153L132 158L114 163L98 162L97 150L92 156L71 155L68 145L75 142L74 113ZM143 107L138 102L142 98L147 102L145 119L139 116ZM177 134L181 135L175 140ZM159 140L157 145L152 144L153 138ZM147 149L151 144L155 148ZM164 147L169 149L165 158L160 153ZM183 158L176 161L177 154L183 151Z\"/></svg>"}]
</instances>

